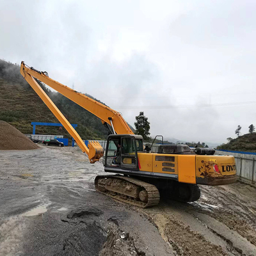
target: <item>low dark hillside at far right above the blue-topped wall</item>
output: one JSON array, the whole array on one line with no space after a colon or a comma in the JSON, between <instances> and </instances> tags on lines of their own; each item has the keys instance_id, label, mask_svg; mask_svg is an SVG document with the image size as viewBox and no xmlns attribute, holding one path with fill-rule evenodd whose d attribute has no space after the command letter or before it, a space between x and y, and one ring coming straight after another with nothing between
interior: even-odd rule
<instances>
[{"instance_id":1,"label":"low dark hillside at far right above the blue-topped wall","mask_svg":"<svg viewBox=\"0 0 256 256\"><path fill-rule=\"evenodd\" d=\"M218 149L256 152L256 133L248 133L231 140L227 144L218 146Z\"/></svg>"}]
</instances>

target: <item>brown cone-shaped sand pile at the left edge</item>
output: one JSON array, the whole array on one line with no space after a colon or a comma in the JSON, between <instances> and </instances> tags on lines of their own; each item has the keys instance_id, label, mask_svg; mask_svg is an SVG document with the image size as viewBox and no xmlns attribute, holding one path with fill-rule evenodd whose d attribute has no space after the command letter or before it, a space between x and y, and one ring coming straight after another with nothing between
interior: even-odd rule
<instances>
[{"instance_id":1,"label":"brown cone-shaped sand pile at the left edge","mask_svg":"<svg viewBox=\"0 0 256 256\"><path fill-rule=\"evenodd\" d=\"M0 120L0 150L28 150L39 148L12 125Z\"/></svg>"}]
</instances>

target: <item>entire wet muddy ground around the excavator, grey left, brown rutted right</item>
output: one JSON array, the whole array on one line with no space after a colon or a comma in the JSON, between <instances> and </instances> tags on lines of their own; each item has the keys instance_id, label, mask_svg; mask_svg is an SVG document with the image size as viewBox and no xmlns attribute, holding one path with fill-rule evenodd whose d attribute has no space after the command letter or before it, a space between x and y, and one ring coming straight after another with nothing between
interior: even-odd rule
<instances>
[{"instance_id":1,"label":"entire wet muddy ground around the excavator, grey left, brown rutted right","mask_svg":"<svg viewBox=\"0 0 256 256\"><path fill-rule=\"evenodd\" d=\"M94 190L100 163L71 147L0 150L0 255L256 255L256 189L140 209Z\"/></svg>"}]
</instances>

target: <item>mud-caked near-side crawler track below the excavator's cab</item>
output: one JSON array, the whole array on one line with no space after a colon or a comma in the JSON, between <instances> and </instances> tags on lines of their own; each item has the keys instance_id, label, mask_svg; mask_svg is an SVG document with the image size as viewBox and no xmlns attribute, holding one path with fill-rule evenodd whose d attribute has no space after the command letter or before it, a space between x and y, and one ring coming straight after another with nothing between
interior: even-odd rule
<instances>
[{"instance_id":1,"label":"mud-caked near-side crawler track below the excavator's cab","mask_svg":"<svg viewBox=\"0 0 256 256\"><path fill-rule=\"evenodd\" d=\"M121 175L97 176L95 189L116 200L143 208L157 205L160 199L156 186Z\"/></svg>"}]
</instances>

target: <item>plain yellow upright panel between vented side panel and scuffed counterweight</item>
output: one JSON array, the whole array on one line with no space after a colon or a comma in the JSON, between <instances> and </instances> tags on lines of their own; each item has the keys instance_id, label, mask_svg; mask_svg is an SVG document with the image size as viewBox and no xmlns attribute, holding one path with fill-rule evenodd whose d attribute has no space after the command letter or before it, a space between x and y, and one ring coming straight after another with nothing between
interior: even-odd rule
<instances>
[{"instance_id":1,"label":"plain yellow upright panel between vented side panel and scuffed counterweight","mask_svg":"<svg viewBox=\"0 0 256 256\"><path fill-rule=\"evenodd\" d=\"M194 155L179 155L179 182L196 184L196 156Z\"/></svg>"}]
</instances>

